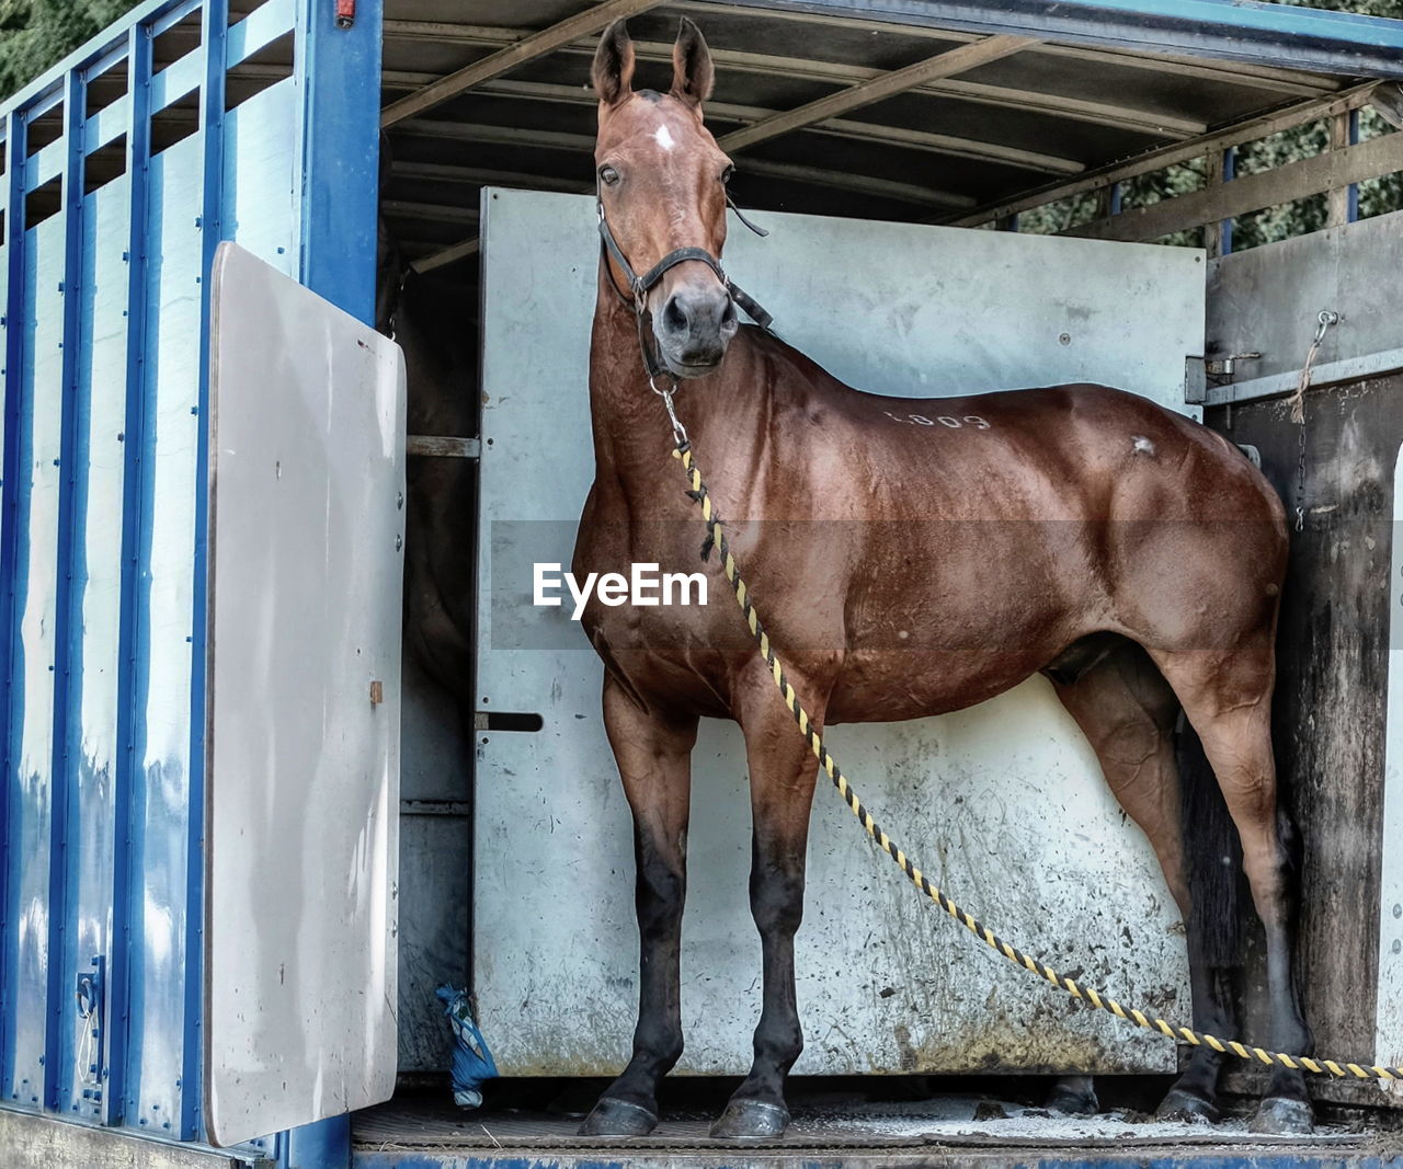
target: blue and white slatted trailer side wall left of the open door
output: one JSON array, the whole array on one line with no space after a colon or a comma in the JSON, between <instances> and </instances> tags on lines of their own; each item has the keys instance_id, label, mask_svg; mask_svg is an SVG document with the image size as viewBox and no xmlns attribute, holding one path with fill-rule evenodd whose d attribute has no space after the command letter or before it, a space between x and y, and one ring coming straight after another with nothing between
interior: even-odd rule
<instances>
[{"instance_id":1,"label":"blue and white slatted trailer side wall left of the open door","mask_svg":"<svg viewBox=\"0 0 1403 1169\"><path fill-rule=\"evenodd\" d=\"M372 317L380 0L335 7L153 0L0 111L8 1107L202 1134L208 275Z\"/></svg>"}]
</instances>

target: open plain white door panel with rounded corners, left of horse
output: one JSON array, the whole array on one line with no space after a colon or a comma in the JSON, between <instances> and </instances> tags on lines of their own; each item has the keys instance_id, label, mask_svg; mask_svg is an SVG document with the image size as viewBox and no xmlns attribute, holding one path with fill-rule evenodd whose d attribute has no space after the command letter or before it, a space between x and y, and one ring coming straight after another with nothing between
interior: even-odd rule
<instances>
[{"instance_id":1,"label":"open plain white door panel with rounded corners, left of horse","mask_svg":"<svg viewBox=\"0 0 1403 1169\"><path fill-rule=\"evenodd\" d=\"M394 1089L404 360L239 247L213 280L205 1116L230 1145Z\"/></svg>"}]
</instances>

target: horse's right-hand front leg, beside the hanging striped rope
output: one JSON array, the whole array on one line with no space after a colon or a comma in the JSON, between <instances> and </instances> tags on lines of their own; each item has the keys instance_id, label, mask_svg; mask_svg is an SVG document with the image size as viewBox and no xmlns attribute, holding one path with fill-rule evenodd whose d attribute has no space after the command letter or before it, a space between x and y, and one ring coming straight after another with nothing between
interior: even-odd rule
<instances>
[{"instance_id":1,"label":"horse's right-hand front leg, beside the hanging striped rope","mask_svg":"<svg viewBox=\"0 0 1403 1169\"><path fill-rule=\"evenodd\" d=\"M818 763L767 673L744 704L741 729L751 771L751 914L760 934L763 1001L751 1074L711 1126L713 1137L779 1137L788 1126L784 1081L804 1036L794 997L794 934L804 917L808 814ZM800 687L804 694L805 687ZM807 701L807 695L805 695ZM822 702L811 708L815 725Z\"/></svg>"}]
</instances>

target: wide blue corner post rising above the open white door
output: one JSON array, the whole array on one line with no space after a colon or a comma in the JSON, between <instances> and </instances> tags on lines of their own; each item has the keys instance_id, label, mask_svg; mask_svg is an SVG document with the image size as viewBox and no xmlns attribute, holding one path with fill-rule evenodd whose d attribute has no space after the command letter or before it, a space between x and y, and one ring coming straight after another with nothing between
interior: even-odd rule
<instances>
[{"instance_id":1,"label":"wide blue corner post rising above the open white door","mask_svg":"<svg viewBox=\"0 0 1403 1169\"><path fill-rule=\"evenodd\" d=\"M383 0L359 0L355 24L302 0L296 78L302 112L302 283L375 324L380 185Z\"/></svg>"}]
</instances>

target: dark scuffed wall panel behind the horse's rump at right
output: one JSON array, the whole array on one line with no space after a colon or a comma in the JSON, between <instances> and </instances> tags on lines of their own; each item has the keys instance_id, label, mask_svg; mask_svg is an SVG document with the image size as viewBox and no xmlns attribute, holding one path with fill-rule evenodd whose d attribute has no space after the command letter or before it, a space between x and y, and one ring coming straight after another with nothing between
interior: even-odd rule
<instances>
[{"instance_id":1,"label":"dark scuffed wall panel behind the horse's rump at right","mask_svg":"<svg viewBox=\"0 0 1403 1169\"><path fill-rule=\"evenodd\" d=\"M1284 307L1294 303L1288 287L1280 297ZM1397 1034L1388 1022L1397 1011L1388 962L1397 960L1399 922L1390 914L1399 898L1381 897L1381 875L1397 863L1388 859L1397 848L1388 809L1399 799L1390 775L1399 753L1386 758L1386 727L1389 705L1397 702L1390 627L1403 377L1312 390L1305 404L1303 475L1302 430L1285 401L1211 409L1208 421L1258 449L1288 512L1298 499L1302 505L1282 593L1274 711L1281 799L1301 834L1296 962L1316 1051L1371 1061ZM1270 1033L1266 962L1250 900L1243 905L1242 1032L1256 1040ZM1266 1078L1230 1065L1226 1083L1254 1092ZM1310 1089L1316 1099L1389 1100L1374 1082L1312 1078Z\"/></svg>"}]
</instances>

